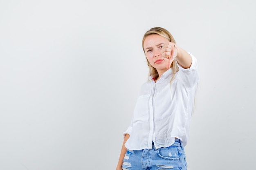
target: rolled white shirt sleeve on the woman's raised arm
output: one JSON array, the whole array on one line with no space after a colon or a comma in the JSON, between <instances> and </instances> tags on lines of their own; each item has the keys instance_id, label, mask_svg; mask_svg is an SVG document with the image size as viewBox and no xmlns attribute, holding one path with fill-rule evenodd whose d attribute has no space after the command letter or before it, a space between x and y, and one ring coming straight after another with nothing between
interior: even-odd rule
<instances>
[{"instance_id":1,"label":"rolled white shirt sleeve on the woman's raised arm","mask_svg":"<svg viewBox=\"0 0 256 170\"><path fill-rule=\"evenodd\" d=\"M182 81L184 81L184 84L187 87L193 87L199 83L200 77L198 73L198 61L191 53L189 53L189 55L191 56L191 59L192 59L192 64L189 68L185 69L182 66L180 66L180 64L178 63L177 65L180 69L179 74L181 75Z\"/></svg>"}]
</instances>

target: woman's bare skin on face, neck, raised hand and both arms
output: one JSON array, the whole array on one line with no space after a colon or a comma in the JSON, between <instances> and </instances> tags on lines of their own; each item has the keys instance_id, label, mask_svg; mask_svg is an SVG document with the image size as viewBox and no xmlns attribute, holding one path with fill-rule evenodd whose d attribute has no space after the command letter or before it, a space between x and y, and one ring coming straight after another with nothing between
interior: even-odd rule
<instances>
[{"instance_id":1,"label":"woman's bare skin on face, neck, raised hand and both arms","mask_svg":"<svg viewBox=\"0 0 256 170\"><path fill-rule=\"evenodd\" d=\"M143 47L148 62L151 64L151 66L157 69L159 77L155 80L155 82L161 77L161 75L163 75L165 71L168 70L168 68L171 67L171 63L175 58L183 68L189 68L192 64L192 59L189 53L178 46L175 48L173 42L169 42L167 38L160 35L148 35L144 40ZM129 137L129 134L126 134L124 137L124 143L121 148L116 170L122 170L122 163L127 151L124 144Z\"/></svg>"}]
</instances>

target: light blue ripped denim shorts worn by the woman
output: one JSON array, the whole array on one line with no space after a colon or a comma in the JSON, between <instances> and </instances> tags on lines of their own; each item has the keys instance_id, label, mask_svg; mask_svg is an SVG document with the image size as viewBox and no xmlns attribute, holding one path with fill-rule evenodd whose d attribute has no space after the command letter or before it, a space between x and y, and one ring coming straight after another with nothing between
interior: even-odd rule
<instances>
[{"instance_id":1,"label":"light blue ripped denim shorts worn by the woman","mask_svg":"<svg viewBox=\"0 0 256 170\"><path fill-rule=\"evenodd\" d=\"M127 150L123 170L186 170L186 155L180 139L167 148Z\"/></svg>"}]
</instances>

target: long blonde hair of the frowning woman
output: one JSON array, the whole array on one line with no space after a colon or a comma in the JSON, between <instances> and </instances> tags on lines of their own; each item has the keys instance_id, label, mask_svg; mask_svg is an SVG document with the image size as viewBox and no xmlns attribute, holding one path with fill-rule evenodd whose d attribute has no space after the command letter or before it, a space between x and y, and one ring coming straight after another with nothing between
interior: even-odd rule
<instances>
[{"instance_id":1,"label":"long blonde hair of the frowning woman","mask_svg":"<svg viewBox=\"0 0 256 170\"><path fill-rule=\"evenodd\" d=\"M152 35L152 34L157 34L157 35L160 35L164 38L167 38L170 42L173 42L173 43L176 43L174 38L173 38L173 35L171 35L171 33L169 31L167 31L166 29L164 28L161 28L161 27L153 27L151 28L150 30L148 30L145 34L144 34L144 37L142 39L142 48L143 48L143 51L144 51L144 54L146 55L145 53L145 50L144 50L144 41L146 39L146 37L148 35ZM148 59L146 58L147 62L148 62ZM179 71L179 67L177 65L177 62L176 62L176 59L173 60L174 62L172 62L170 68L172 67L173 69L173 77L171 79L171 82L173 81L174 77L175 77L175 73L177 73L177 71ZM158 77L158 73L157 73L157 69L155 69L153 66L149 65L149 62L148 62L148 68L149 68L149 76L153 76L155 78ZM156 76L155 76L156 75ZM170 82L170 83L171 83Z\"/></svg>"}]
</instances>

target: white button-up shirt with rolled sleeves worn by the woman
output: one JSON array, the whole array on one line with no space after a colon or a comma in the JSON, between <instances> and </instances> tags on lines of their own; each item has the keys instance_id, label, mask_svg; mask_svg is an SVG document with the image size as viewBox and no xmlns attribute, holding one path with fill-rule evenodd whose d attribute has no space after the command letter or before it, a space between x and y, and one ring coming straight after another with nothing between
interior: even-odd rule
<instances>
[{"instance_id":1,"label":"white button-up shirt with rolled sleeves worn by the woman","mask_svg":"<svg viewBox=\"0 0 256 170\"><path fill-rule=\"evenodd\" d=\"M168 69L158 80L141 86L134 109L132 122L124 132L130 137L126 148L141 150L168 147L175 137L186 146L193 112L195 92L199 83L197 60L191 54L192 64L179 71L170 84L173 69Z\"/></svg>"}]
</instances>

